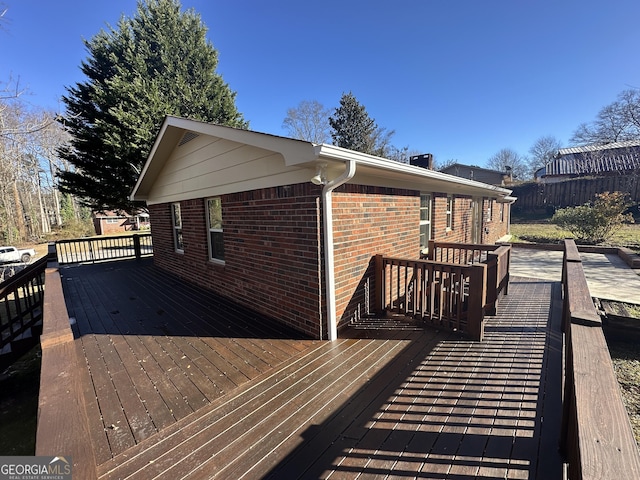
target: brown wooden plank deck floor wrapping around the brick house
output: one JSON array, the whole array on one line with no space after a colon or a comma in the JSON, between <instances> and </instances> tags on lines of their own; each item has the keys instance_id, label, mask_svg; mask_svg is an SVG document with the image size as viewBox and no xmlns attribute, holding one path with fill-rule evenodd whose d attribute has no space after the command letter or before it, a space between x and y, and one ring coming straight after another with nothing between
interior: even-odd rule
<instances>
[{"instance_id":1,"label":"brown wooden plank deck floor wrapping around the brick house","mask_svg":"<svg viewBox=\"0 0 640 480\"><path fill-rule=\"evenodd\" d=\"M312 341L142 260L62 268L98 475L559 479L559 284L485 341L372 320Z\"/></svg>"}]
</instances>

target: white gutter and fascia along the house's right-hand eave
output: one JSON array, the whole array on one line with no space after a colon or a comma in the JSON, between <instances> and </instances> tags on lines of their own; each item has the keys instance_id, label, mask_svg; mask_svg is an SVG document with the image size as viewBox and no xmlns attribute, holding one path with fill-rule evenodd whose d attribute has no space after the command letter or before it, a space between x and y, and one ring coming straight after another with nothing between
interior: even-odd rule
<instances>
[{"instance_id":1,"label":"white gutter and fascia along the house's right-hand eave","mask_svg":"<svg viewBox=\"0 0 640 480\"><path fill-rule=\"evenodd\" d=\"M406 176L408 182L415 183L417 179L424 179L431 182L435 181L442 184L449 184L453 187L450 190L467 190L474 194L483 193L484 195L496 198L505 197L511 194L511 190L506 188L477 182L467 178L456 177L455 175L449 175L435 170L428 170L426 168L400 163L386 158L354 152L334 145L318 145L316 149L320 158L343 161L355 160L358 166L370 167L372 169L379 170L381 173L393 172Z\"/></svg>"}]
</instances>

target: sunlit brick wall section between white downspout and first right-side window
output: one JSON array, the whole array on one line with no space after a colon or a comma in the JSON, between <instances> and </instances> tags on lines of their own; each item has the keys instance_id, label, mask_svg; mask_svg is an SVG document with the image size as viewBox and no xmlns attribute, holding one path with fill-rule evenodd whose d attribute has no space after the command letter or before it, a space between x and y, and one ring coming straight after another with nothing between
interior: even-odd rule
<instances>
[{"instance_id":1,"label":"sunlit brick wall section between white downspout and first right-side window","mask_svg":"<svg viewBox=\"0 0 640 480\"><path fill-rule=\"evenodd\" d=\"M420 192L345 185L333 194L338 326L368 313L373 257L420 255ZM369 296L367 298L367 289Z\"/></svg>"}]
</instances>

